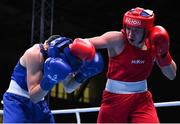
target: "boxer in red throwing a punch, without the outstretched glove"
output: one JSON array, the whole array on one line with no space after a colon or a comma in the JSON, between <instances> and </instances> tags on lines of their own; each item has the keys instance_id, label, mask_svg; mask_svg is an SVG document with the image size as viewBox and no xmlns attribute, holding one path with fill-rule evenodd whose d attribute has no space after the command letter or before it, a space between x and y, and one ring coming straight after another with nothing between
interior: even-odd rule
<instances>
[{"instance_id":1,"label":"boxer in red throwing a punch, without the outstretched glove","mask_svg":"<svg viewBox=\"0 0 180 124\"><path fill-rule=\"evenodd\" d=\"M152 10L136 7L124 14L121 31L84 39L97 49L107 48L109 56L97 123L159 123L147 78L155 63L170 80L177 67L168 32L154 20Z\"/></svg>"}]
</instances>

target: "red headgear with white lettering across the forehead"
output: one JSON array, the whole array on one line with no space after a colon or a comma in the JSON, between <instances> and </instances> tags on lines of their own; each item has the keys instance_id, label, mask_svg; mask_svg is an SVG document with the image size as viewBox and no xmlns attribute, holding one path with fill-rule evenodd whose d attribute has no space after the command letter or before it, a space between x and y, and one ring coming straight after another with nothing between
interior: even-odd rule
<instances>
[{"instance_id":1,"label":"red headgear with white lettering across the forehead","mask_svg":"<svg viewBox=\"0 0 180 124\"><path fill-rule=\"evenodd\" d=\"M154 25L154 13L152 10L136 7L124 14L123 26L140 27L149 31Z\"/></svg>"}]
</instances>

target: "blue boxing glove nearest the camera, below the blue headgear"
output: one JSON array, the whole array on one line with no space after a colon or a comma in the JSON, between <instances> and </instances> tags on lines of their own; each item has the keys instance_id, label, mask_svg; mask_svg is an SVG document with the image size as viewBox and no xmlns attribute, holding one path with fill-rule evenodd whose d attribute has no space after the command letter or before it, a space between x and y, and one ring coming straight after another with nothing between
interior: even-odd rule
<instances>
[{"instance_id":1,"label":"blue boxing glove nearest the camera, below the blue headgear","mask_svg":"<svg viewBox=\"0 0 180 124\"><path fill-rule=\"evenodd\" d=\"M50 57L44 63L44 76L40 86L43 90L49 91L71 72L71 67L64 60Z\"/></svg>"}]
</instances>

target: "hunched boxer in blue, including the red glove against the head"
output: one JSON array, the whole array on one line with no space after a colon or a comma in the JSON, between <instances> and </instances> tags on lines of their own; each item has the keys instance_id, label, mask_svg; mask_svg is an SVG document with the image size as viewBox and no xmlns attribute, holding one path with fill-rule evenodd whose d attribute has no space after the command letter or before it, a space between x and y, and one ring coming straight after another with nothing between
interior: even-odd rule
<instances>
[{"instance_id":1,"label":"hunched boxer in blue, including the red glove against the head","mask_svg":"<svg viewBox=\"0 0 180 124\"><path fill-rule=\"evenodd\" d=\"M93 45L75 41L52 35L25 51L3 95L3 123L55 123L44 99L47 93L58 83L71 93L103 70L103 58Z\"/></svg>"}]
</instances>

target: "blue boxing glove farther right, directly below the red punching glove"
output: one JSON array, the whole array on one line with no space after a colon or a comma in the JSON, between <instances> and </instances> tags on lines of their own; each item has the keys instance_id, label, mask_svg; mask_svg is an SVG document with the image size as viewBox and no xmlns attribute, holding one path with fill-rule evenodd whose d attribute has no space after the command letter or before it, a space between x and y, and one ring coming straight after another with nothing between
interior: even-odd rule
<instances>
[{"instance_id":1,"label":"blue boxing glove farther right, directly below the red punching glove","mask_svg":"<svg viewBox=\"0 0 180 124\"><path fill-rule=\"evenodd\" d=\"M75 76L75 81L83 83L87 79L101 73L104 68L104 61L100 53L96 53L92 61L84 61L79 72Z\"/></svg>"}]
</instances>

